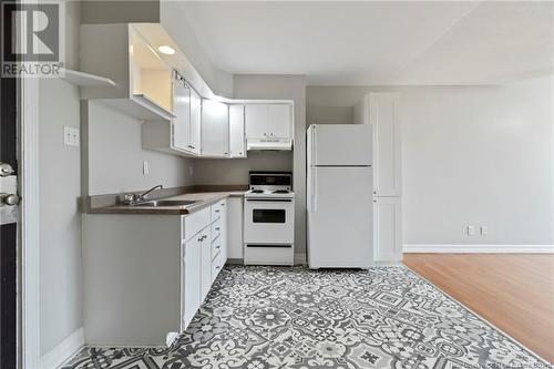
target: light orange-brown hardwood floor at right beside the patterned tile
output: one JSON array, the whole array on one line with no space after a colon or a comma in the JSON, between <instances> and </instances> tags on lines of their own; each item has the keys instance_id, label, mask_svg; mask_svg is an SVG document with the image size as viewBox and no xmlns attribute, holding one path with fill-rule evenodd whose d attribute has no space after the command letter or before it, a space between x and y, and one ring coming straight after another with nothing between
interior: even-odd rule
<instances>
[{"instance_id":1,"label":"light orange-brown hardwood floor at right beside the patterned tile","mask_svg":"<svg viewBox=\"0 0 554 369\"><path fill-rule=\"evenodd\" d=\"M403 263L554 361L554 255L404 254Z\"/></svg>"}]
</instances>

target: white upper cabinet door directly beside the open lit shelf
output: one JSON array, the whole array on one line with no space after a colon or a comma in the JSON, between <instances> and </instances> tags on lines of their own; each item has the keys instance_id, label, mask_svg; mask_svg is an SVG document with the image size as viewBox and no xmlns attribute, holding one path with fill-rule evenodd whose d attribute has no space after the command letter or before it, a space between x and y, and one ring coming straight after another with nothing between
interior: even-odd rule
<instances>
[{"instance_id":1,"label":"white upper cabinet door directly beside the open lit shelf","mask_svg":"<svg viewBox=\"0 0 554 369\"><path fill-rule=\"evenodd\" d=\"M181 80L173 81L173 146L191 151L191 89Z\"/></svg>"}]
</instances>

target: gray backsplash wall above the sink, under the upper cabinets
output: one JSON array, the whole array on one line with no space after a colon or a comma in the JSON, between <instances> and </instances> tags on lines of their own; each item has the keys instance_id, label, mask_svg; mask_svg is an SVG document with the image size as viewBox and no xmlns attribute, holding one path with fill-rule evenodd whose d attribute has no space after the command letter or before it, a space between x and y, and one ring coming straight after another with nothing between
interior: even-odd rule
<instances>
[{"instance_id":1,"label":"gray backsplash wall above the sink, under the upper cabinets","mask_svg":"<svg viewBox=\"0 0 554 369\"><path fill-rule=\"evenodd\" d=\"M89 195L142 191L157 184L179 187L193 184L193 161L142 148L141 122L95 101L83 102L89 160L85 173ZM143 174L143 161L148 174Z\"/></svg>"}]
</instances>

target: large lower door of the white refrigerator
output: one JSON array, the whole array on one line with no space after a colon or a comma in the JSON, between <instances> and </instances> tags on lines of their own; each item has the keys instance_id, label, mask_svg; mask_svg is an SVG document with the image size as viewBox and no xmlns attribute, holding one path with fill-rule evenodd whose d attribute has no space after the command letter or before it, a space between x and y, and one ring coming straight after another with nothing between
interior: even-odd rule
<instances>
[{"instance_id":1,"label":"large lower door of the white refrigerator","mask_svg":"<svg viewBox=\"0 0 554 369\"><path fill-rule=\"evenodd\" d=\"M372 265L372 177L369 167L309 168L310 268Z\"/></svg>"}]
</instances>

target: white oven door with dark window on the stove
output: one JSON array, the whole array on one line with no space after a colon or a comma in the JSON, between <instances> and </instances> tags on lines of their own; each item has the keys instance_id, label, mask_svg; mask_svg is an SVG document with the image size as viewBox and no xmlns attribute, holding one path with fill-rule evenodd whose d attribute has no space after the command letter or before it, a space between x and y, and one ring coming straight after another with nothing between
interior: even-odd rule
<instances>
[{"instance_id":1,"label":"white oven door with dark window on the stove","mask_svg":"<svg viewBox=\"0 0 554 369\"><path fill-rule=\"evenodd\" d=\"M244 208L245 244L294 244L293 198L245 198Z\"/></svg>"}]
</instances>

